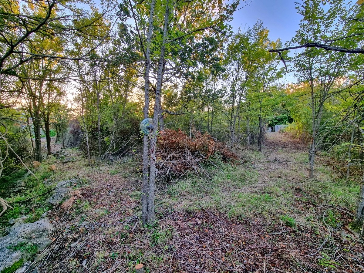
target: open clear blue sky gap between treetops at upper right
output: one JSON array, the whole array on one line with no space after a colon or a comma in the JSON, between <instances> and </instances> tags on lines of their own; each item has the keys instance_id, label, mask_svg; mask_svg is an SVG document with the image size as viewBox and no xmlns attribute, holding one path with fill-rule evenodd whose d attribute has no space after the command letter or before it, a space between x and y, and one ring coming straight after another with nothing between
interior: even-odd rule
<instances>
[{"instance_id":1,"label":"open clear blue sky gap between treetops at upper right","mask_svg":"<svg viewBox=\"0 0 364 273\"><path fill-rule=\"evenodd\" d=\"M245 2L240 0L238 8L242 7ZM263 21L263 25L269 29L271 40L281 39L282 44L290 41L296 31L302 18L297 14L294 0L252 0L244 8L236 11L234 19L230 22L234 31L238 28L242 30L253 27L258 19ZM296 82L292 74L284 77L285 82Z\"/></svg>"}]
</instances>

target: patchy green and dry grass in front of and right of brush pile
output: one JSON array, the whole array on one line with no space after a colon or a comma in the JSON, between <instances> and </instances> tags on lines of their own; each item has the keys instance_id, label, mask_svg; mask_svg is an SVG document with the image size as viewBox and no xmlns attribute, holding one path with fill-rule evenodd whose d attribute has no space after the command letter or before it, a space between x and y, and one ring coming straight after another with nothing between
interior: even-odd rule
<instances>
[{"instance_id":1,"label":"patchy green and dry grass in front of and right of brush pile","mask_svg":"<svg viewBox=\"0 0 364 273\"><path fill-rule=\"evenodd\" d=\"M266 155L245 151L246 157L252 157L246 165L220 163L218 166L221 170L207 173L211 178L192 175L175 181L160 193L160 206L180 206L187 211L212 209L238 219L263 216L281 220L289 227L316 225L310 208L303 215L297 201L310 202L314 198L328 205L354 209L358 185L345 186L344 182L332 182L329 167L318 164L316 175L320 180L309 180L306 178L308 160L305 151L289 153L287 150L278 150L277 153L284 163L276 163L274 167L271 161L266 160ZM251 161L255 161L259 167L252 166ZM269 167L272 169L268 170ZM297 198L297 186L305 189L309 195ZM338 224L332 211L326 212L326 217L329 225Z\"/></svg>"}]
</instances>

